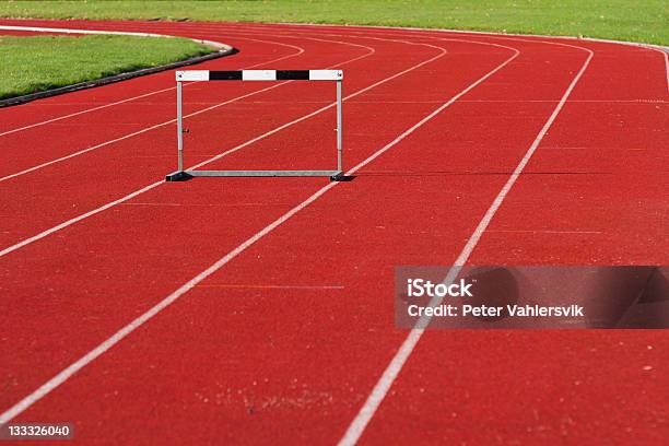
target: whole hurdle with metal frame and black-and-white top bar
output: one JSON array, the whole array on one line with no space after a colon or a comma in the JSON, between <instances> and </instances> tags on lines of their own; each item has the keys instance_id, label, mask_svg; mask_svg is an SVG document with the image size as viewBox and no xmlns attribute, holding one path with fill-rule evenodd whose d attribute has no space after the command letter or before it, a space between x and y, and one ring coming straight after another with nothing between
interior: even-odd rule
<instances>
[{"instance_id":1,"label":"whole hurdle with metal frame and black-and-white top bar","mask_svg":"<svg viewBox=\"0 0 669 446\"><path fill-rule=\"evenodd\" d=\"M337 82L337 169L332 171L197 171L184 169L184 116L181 110L181 83L188 81L334 81ZM177 156L178 171L166 176L167 181L190 177L280 177L328 176L332 180L343 178L342 160L342 86L341 70L188 70L176 72L177 92Z\"/></svg>"}]
</instances>

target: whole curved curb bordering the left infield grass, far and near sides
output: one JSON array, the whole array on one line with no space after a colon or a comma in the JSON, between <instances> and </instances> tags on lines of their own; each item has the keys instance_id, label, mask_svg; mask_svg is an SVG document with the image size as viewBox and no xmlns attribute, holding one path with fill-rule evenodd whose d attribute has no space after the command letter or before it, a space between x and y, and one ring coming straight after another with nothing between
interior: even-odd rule
<instances>
[{"instance_id":1,"label":"whole curved curb bordering the left infield grass, far and near sides","mask_svg":"<svg viewBox=\"0 0 669 446\"><path fill-rule=\"evenodd\" d=\"M174 36L164 35L164 34L152 34L152 33L126 33L126 32L111 32L111 31L90 31L90 30L68 30L68 28L46 28L46 27L28 27L28 26L0 26L1 30L11 30L11 31L34 31L42 33L63 33L63 34L107 34L107 35L130 35L130 36L142 36L142 37L164 37L164 38L173 38ZM188 38L188 37L186 37ZM172 70L179 67L190 66L195 63L204 62L207 60L218 59L220 57L230 56L238 52L236 48L231 47L230 45L222 44L220 42L213 40L201 40L197 38L191 38L190 40L197 42L198 44L207 45L213 48L218 48L215 52L210 52L204 56L191 57L186 60L179 60L177 62L172 62L159 67L143 68L141 70L130 71L127 73L109 75L102 79L96 79L93 81L79 82L72 85L60 86L58 89L47 90L44 92L25 94L23 96L9 97L7 99L0 101L0 107L9 107L12 105L25 104L31 101L42 99L44 97L56 96L59 94L70 93L78 90L92 89L94 86L107 85L114 82L126 81L128 79L138 78L140 75L153 74L160 71Z\"/></svg>"}]
</instances>

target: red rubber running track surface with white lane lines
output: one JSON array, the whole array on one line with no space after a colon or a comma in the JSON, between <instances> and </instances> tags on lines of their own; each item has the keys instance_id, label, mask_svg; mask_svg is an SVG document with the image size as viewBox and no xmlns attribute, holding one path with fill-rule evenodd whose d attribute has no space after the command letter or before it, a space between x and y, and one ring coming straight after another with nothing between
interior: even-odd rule
<instances>
[{"instance_id":1,"label":"red rubber running track surface with white lane lines","mask_svg":"<svg viewBox=\"0 0 669 446\"><path fill-rule=\"evenodd\" d=\"M220 40L240 52L198 69L341 68L344 95L385 80L344 103L347 167L517 54L15 422L71 422L81 444L338 442L407 336L394 328L394 267L456 260L589 51L469 261L669 262L658 51L338 26L0 24ZM159 126L174 119L173 87L169 71L0 109L0 176L10 177L0 180L0 249L174 171L175 125ZM195 83L184 94L186 114L247 95L185 120L191 165L319 109L334 91ZM203 168L330 168L333 128L330 108ZM0 411L327 184L161 184L0 256ZM361 443L666 444L668 348L661 330L427 331Z\"/></svg>"}]
</instances>

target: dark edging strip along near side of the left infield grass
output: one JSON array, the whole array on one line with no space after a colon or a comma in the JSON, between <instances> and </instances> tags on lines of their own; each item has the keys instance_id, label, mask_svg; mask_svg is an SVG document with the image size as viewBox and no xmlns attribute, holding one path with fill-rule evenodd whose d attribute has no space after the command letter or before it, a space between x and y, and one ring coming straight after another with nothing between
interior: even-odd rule
<instances>
[{"instance_id":1,"label":"dark edging strip along near side of the left infield grass","mask_svg":"<svg viewBox=\"0 0 669 446\"><path fill-rule=\"evenodd\" d=\"M92 89L95 86L107 85L114 82L126 81L132 78L139 78L140 75L153 74L160 71L172 70L179 67L186 67L195 63L204 62L212 59L218 59L220 57L231 56L239 52L236 48L221 49L215 52L210 52L204 56L191 57L190 59L179 60L178 62L172 62L160 67L151 67L143 68L137 71L130 71L128 73L120 73L115 75L109 75L107 78L96 79L93 81L85 81L75 83L72 85L59 86L58 89L47 90L44 92L25 94L23 96L9 97L7 99L0 99L0 108L1 107L10 107L12 105L25 104L31 101L42 99L44 97L57 96L59 94L71 93L79 90Z\"/></svg>"}]
</instances>

